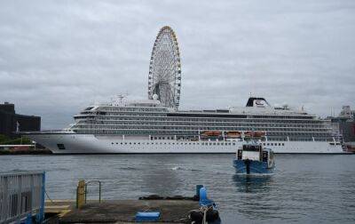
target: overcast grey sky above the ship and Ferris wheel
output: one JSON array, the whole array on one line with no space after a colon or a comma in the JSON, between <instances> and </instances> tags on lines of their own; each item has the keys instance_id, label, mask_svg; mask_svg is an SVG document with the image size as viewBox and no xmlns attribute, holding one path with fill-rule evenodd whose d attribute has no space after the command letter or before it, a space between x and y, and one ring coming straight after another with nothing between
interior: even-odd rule
<instances>
[{"instance_id":1,"label":"overcast grey sky above the ship and Ferris wheel","mask_svg":"<svg viewBox=\"0 0 355 224\"><path fill-rule=\"evenodd\" d=\"M0 1L0 102L59 129L115 94L146 99L165 25L180 108L244 106L249 92L319 116L355 108L353 0Z\"/></svg>"}]
</instances>

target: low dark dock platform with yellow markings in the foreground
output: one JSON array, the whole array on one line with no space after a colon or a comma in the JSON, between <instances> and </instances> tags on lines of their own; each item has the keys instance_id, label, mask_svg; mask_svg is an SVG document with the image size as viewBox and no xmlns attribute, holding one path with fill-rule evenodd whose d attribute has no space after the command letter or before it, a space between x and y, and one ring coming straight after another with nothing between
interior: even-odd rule
<instances>
[{"instance_id":1,"label":"low dark dock platform with yellow markings in the foreground","mask_svg":"<svg viewBox=\"0 0 355 224\"><path fill-rule=\"evenodd\" d=\"M160 212L158 222L188 223L189 212L199 208L198 201L169 199L88 201L81 209L75 208L74 200L45 203L45 213L57 223L135 223L137 212Z\"/></svg>"}]
</instances>

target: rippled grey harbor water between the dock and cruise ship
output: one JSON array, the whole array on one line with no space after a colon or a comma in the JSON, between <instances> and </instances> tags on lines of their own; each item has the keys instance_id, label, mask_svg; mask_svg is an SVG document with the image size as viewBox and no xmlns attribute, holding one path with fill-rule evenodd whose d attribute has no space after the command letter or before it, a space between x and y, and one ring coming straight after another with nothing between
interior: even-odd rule
<instances>
[{"instance_id":1,"label":"rippled grey harbor water between the dock and cruise ship","mask_svg":"<svg viewBox=\"0 0 355 224\"><path fill-rule=\"evenodd\" d=\"M203 184L223 223L355 222L355 155L275 157L272 176L250 178L234 174L233 155L0 156L0 172L46 171L51 199L75 199L79 179L101 180L103 199L189 196Z\"/></svg>"}]
</instances>

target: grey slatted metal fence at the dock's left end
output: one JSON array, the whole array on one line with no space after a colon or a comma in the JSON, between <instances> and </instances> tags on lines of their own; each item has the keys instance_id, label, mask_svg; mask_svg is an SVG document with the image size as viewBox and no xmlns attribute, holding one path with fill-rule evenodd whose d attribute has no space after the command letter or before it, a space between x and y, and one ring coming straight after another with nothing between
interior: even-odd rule
<instances>
[{"instance_id":1,"label":"grey slatted metal fence at the dock's left end","mask_svg":"<svg viewBox=\"0 0 355 224\"><path fill-rule=\"evenodd\" d=\"M45 172L0 174L0 223L44 218Z\"/></svg>"}]
</instances>

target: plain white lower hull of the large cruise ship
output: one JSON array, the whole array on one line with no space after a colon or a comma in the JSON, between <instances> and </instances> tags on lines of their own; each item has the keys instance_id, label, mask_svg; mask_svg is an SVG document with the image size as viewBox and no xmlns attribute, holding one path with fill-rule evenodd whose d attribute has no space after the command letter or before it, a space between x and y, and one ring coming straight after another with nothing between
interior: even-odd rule
<instances>
[{"instance_id":1,"label":"plain white lower hull of the large cruise ship","mask_svg":"<svg viewBox=\"0 0 355 224\"><path fill-rule=\"evenodd\" d=\"M75 133L32 133L28 137L54 154L235 153L243 141L122 139ZM342 154L340 144L326 141L263 141L275 153ZM61 148L61 149L59 149Z\"/></svg>"}]
</instances>

